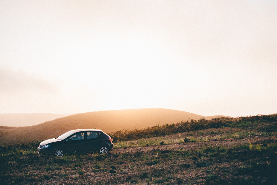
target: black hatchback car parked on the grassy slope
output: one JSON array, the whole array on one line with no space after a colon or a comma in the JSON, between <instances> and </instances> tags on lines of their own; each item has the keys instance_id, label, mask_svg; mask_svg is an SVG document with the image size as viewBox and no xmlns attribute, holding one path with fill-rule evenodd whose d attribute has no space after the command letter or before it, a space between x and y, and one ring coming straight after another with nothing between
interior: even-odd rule
<instances>
[{"instance_id":1,"label":"black hatchback car parked on the grassy slope","mask_svg":"<svg viewBox=\"0 0 277 185\"><path fill-rule=\"evenodd\" d=\"M75 153L107 153L114 144L109 135L97 129L77 129L64 133L53 139L42 141L38 154L62 157Z\"/></svg>"}]
</instances>

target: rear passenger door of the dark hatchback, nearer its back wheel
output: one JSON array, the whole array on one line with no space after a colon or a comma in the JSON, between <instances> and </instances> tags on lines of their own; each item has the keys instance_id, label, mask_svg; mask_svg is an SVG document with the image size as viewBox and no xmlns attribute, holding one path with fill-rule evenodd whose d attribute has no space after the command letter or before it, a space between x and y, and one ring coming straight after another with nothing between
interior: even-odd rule
<instances>
[{"instance_id":1,"label":"rear passenger door of the dark hatchback, nearer its back wheel","mask_svg":"<svg viewBox=\"0 0 277 185\"><path fill-rule=\"evenodd\" d=\"M96 131L87 131L85 146L87 152L98 151L100 147L99 133Z\"/></svg>"}]
</instances>

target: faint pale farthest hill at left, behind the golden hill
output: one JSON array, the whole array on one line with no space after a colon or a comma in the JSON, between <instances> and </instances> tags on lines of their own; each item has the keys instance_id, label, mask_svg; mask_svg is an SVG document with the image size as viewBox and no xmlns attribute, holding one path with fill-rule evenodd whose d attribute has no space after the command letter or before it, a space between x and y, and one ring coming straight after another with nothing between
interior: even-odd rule
<instances>
[{"instance_id":1,"label":"faint pale farthest hill at left, behind the golden hill","mask_svg":"<svg viewBox=\"0 0 277 185\"><path fill-rule=\"evenodd\" d=\"M26 127L38 125L46 121L62 118L73 114L51 114L51 113L31 113L31 114L0 114L0 126Z\"/></svg>"}]
</instances>

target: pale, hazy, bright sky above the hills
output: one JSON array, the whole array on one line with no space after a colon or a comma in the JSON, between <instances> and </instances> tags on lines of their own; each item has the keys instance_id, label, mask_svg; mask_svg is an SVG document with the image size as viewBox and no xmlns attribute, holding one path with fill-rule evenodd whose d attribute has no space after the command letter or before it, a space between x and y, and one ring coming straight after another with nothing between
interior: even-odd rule
<instances>
[{"instance_id":1,"label":"pale, hazy, bright sky above the hills","mask_svg":"<svg viewBox=\"0 0 277 185\"><path fill-rule=\"evenodd\" d=\"M0 113L277 112L277 1L0 1Z\"/></svg>"}]
</instances>

